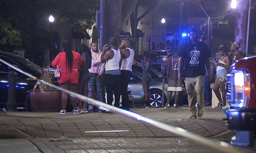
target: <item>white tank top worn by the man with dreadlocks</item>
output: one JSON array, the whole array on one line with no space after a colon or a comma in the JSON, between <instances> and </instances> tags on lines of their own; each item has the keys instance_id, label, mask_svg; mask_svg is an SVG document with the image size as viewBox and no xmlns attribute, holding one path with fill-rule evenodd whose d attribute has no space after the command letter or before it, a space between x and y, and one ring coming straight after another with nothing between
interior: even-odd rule
<instances>
[{"instance_id":1,"label":"white tank top worn by the man with dreadlocks","mask_svg":"<svg viewBox=\"0 0 256 153\"><path fill-rule=\"evenodd\" d=\"M114 57L112 59L109 59L106 61L106 65L105 65L105 70L106 71L110 71L110 70L119 70L119 62L121 59L121 53L120 50L115 50L115 49L110 49L113 50L114 52Z\"/></svg>"}]
</instances>

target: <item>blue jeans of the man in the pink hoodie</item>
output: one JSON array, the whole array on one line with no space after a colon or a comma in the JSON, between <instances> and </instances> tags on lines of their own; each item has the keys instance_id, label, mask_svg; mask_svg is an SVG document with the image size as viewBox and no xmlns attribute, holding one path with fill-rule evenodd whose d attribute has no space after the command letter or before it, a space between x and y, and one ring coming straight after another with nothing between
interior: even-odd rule
<instances>
[{"instance_id":1,"label":"blue jeans of the man in the pink hoodie","mask_svg":"<svg viewBox=\"0 0 256 153\"><path fill-rule=\"evenodd\" d=\"M93 99L94 90L96 90L97 100L102 102L102 93L101 93L101 86L102 86L102 79L100 78L97 80L98 74L91 73L91 78L88 82L88 97ZM95 88L96 87L96 88ZM88 104L88 106L91 104Z\"/></svg>"}]
</instances>

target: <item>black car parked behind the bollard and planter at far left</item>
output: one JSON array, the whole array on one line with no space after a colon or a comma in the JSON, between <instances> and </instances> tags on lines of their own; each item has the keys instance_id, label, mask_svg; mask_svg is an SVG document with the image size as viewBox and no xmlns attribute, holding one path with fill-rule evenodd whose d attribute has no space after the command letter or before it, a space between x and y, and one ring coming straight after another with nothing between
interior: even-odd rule
<instances>
[{"instance_id":1,"label":"black car parked behind the bollard and planter at far left","mask_svg":"<svg viewBox=\"0 0 256 153\"><path fill-rule=\"evenodd\" d=\"M16 54L0 52L0 58L19 69L40 78L39 71L44 71L41 67L35 65L29 60L18 56ZM16 102L17 108L29 108L29 90L33 90L36 81L26 81L28 78L26 75L15 71L16 77ZM7 95L8 95L8 66L0 62L0 107L6 107ZM54 79L54 83L58 84L57 79Z\"/></svg>"}]
</instances>

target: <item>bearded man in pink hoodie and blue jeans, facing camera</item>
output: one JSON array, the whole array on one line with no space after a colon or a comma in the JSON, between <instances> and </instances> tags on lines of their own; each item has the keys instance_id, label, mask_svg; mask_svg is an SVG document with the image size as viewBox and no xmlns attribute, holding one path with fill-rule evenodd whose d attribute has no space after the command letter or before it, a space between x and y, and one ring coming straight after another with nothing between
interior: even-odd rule
<instances>
[{"instance_id":1,"label":"bearded man in pink hoodie and blue jeans, facing camera","mask_svg":"<svg viewBox=\"0 0 256 153\"><path fill-rule=\"evenodd\" d=\"M88 82L88 97L93 98L94 90L96 89L96 96L98 101L102 101L102 78L101 75L104 72L104 63L101 63L101 51L98 49L98 44L91 43L91 53L92 53L92 66L89 69L91 73L91 78ZM103 91L104 92L104 91ZM88 104L88 112L93 111L93 106ZM101 110L99 109L99 112Z\"/></svg>"}]
</instances>

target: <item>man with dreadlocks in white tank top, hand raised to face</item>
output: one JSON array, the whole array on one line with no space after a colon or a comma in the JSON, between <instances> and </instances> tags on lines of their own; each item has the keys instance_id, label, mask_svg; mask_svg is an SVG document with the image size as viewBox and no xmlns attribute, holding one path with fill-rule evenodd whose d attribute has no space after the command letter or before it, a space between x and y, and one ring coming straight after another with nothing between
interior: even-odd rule
<instances>
[{"instance_id":1,"label":"man with dreadlocks in white tank top, hand raised to face","mask_svg":"<svg viewBox=\"0 0 256 153\"><path fill-rule=\"evenodd\" d=\"M101 63L105 63L105 76L103 82L106 87L107 93L107 103L112 105L113 102L113 92L115 94L115 107L119 107L121 88L120 88L120 75L121 75L121 63L122 54L117 48L116 40L112 37L109 39L109 45L105 44L103 46L103 51L101 54ZM110 47L110 50L108 48ZM102 111L108 112L108 111Z\"/></svg>"}]
</instances>

